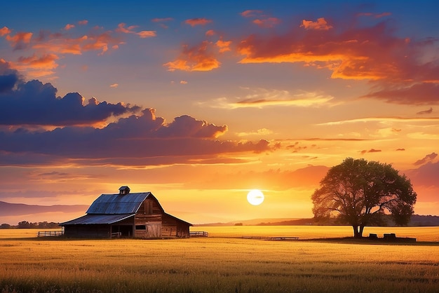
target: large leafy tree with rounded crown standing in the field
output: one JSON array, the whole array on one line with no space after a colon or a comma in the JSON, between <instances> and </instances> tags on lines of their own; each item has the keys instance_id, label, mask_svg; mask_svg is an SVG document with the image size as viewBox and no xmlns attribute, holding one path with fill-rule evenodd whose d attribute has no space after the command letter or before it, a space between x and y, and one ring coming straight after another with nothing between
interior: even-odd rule
<instances>
[{"instance_id":1,"label":"large leafy tree with rounded crown standing in the field","mask_svg":"<svg viewBox=\"0 0 439 293\"><path fill-rule=\"evenodd\" d=\"M346 158L327 171L311 198L315 219L337 218L361 238L364 227L379 224L384 214L398 225L407 224L417 194L410 179L391 165Z\"/></svg>"}]
</instances>

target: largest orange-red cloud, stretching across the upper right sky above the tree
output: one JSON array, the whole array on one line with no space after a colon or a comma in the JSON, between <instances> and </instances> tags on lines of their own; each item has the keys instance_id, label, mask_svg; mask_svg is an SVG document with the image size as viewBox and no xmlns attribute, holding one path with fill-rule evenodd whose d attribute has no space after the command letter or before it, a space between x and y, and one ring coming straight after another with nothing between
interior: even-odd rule
<instances>
[{"instance_id":1,"label":"largest orange-red cloud, stretching across the upper right sky above the tree","mask_svg":"<svg viewBox=\"0 0 439 293\"><path fill-rule=\"evenodd\" d=\"M385 23L338 33L325 30L328 26L323 19L302 26L304 31L292 29L280 36L248 36L238 44L238 53L244 55L240 63L304 62L329 69L333 79L402 81L412 74L405 58L410 42L389 35Z\"/></svg>"}]
</instances>

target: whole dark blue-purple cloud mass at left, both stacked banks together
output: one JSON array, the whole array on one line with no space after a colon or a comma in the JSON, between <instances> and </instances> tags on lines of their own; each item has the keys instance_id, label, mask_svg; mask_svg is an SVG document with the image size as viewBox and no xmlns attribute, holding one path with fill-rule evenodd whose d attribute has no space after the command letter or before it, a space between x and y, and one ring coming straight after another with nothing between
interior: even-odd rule
<instances>
[{"instance_id":1,"label":"whole dark blue-purple cloud mass at left, both stacked banks together","mask_svg":"<svg viewBox=\"0 0 439 293\"><path fill-rule=\"evenodd\" d=\"M263 139L221 141L227 125L188 115L166 123L154 109L57 97L50 83L22 81L6 62L0 73L0 165L240 163L233 154L275 149Z\"/></svg>"}]
</instances>

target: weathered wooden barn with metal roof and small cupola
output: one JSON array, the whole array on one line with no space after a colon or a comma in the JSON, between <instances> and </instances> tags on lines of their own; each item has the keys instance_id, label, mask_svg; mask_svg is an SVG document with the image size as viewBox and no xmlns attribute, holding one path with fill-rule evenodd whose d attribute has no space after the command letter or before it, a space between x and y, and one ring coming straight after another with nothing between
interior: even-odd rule
<instances>
[{"instance_id":1,"label":"weathered wooden barn with metal roof and small cupola","mask_svg":"<svg viewBox=\"0 0 439 293\"><path fill-rule=\"evenodd\" d=\"M188 238L189 226L167 214L151 192L102 194L88 207L86 215L60 223L70 238Z\"/></svg>"}]
</instances>

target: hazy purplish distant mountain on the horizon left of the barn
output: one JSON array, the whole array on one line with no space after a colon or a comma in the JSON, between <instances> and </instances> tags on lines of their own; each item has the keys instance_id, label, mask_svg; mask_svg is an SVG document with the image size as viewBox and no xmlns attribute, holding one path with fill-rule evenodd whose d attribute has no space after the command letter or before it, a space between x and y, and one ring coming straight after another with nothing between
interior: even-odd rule
<instances>
[{"instance_id":1,"label":"hazy purplish distant mountain on the horizon left of the barn","mask_svg":"<svg viewBox=\"0 0 439 293\"><path fill-rule=\"evenodd\" d=\"M25 214L40 214L43 212L83 212L88 205L26 205L24 203L6 203L0 201L0 216L18 216Z\"/></svg>"}]
</instances>

